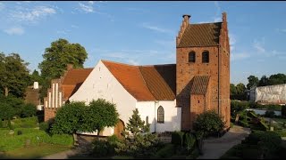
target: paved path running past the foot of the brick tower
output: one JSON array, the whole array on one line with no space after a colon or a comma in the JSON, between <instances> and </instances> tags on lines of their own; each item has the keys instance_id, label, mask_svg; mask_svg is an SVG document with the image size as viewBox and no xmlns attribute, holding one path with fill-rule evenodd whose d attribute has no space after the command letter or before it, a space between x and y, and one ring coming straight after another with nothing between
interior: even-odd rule
<instances>
[{"instance_id":1,"label":"paved path running past the foot of the brick tower","mask_svg":"<svg viewBox=\"0 0 286 160\"><path fill-rule=\"evenodd\" d=\"M206 139L203 146L204 155L198 156L198 159L219 159L227 150L248 137L249 133L249 128L233 125L223 137Z\"/></svg>"}]
</instances>

